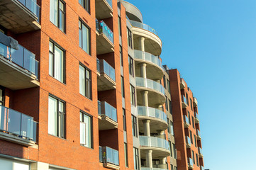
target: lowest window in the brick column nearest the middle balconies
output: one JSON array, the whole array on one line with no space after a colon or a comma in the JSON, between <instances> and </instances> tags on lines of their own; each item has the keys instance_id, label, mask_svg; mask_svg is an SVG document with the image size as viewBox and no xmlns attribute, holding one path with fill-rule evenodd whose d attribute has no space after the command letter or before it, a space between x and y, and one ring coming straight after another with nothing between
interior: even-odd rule
<instances>
[{"instance_id":1,"label":"lowest window in the brick column nearest the middle balconies","mask_svg":"<svg viewBox=\"0 0 256 170\"><path fill-rule=\"evenodd\" d=\"M92 148L92 123L91 116L80 111L80 143Z\"/></svg>"}]
</instances>

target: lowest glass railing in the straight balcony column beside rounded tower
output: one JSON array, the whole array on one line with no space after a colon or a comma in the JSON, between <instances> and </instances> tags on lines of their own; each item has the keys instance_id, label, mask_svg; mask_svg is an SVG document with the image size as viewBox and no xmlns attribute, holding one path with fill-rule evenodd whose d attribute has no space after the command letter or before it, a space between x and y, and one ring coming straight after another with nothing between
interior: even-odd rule
<instances>
[{"instance_id":1,"label":"lowest glass railing in the straight balcony column beside rounded tower","mask_svg":"<svg viewBox=\"0 0 256 170\"><path fill-rule=\"evenodd\" d=\"M99 161L119 166L119 153L116 149L99 146Z\"/></svg>"}]
</instances>

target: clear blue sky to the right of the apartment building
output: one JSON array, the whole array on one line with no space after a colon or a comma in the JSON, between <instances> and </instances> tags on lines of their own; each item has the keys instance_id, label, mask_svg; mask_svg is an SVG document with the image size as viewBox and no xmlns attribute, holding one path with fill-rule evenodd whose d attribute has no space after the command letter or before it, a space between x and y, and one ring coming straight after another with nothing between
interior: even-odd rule
<instances>
[{"instance_id":1,"label":"clear blue sky to the right of the apartment building","mask_svg":"<svg viewBox=\"0 0 256 170\"><path fill-rule=\"evenodd\" d=\"M256 1L128 1L199 102L205 168L255 169Z\"/></svg>"}]
</instances>

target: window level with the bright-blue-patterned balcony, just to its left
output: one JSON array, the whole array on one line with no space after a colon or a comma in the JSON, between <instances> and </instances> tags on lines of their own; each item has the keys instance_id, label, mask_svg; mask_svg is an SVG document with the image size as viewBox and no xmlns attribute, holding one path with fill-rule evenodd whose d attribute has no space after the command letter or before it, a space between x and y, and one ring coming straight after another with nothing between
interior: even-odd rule
<instances>
[{"instance_id":1,"label":"window level with the bright-blue-patterned balcony, just to its left","mask_svg":"<svg viewBox=\"0 0 256 170\"><path fill-rule=\"evenodd\" d=\"M79 20L79 47L91 55L91 30L81 20Z\"/></svg>"}]
</instances>

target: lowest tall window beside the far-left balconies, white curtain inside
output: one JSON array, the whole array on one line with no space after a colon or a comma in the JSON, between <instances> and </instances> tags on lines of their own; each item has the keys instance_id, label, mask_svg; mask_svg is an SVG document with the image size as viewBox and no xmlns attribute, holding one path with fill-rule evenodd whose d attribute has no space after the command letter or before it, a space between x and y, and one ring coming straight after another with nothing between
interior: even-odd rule
<instances>
[{"instance_id":1,"label":"lowest tall window beside the far-left balconies, white curtain inside","mask_svg":"<svg viewBox=\"0 0 256 170\"><path fill-rule=\"evenodd\" d=\"M65 102L54 96L48 101L48 133L65 138Z\"/></svg>"}]
</instances>

